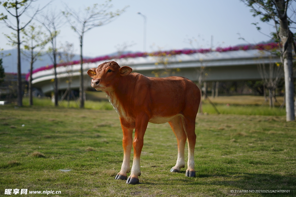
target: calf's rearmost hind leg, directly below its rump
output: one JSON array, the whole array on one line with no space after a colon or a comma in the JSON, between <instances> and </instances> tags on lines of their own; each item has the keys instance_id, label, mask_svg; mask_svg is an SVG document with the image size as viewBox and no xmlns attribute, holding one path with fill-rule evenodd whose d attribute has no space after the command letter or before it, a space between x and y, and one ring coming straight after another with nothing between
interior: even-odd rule
<instances>
[{"instance_id":1,"label":"calf's rearmost hind leg, directly below its rump","mask_svg":"<svg viewBox=\"0 0 296 197\"><path fill-rule=\"evenodd\" d=\"M194 170L194 148L196 142L196 135L195 135L195 118L182 118L184 130L188 140L188 162L187 162L187 170L186 176L188 177L195 177L195 170Z\"/></svg>"}]
</instances>

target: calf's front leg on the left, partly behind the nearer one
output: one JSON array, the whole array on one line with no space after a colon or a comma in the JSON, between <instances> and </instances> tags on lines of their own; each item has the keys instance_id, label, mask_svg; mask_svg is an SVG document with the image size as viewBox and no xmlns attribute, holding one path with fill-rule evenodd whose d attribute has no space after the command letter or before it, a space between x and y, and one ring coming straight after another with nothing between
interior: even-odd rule
<instances>
[{"instance_id":1,"label":"calf's front leg on the left, partly behind the nearer one","mask_svg":"<svg viewBox=\"0 0 296 197\"><path fill-rule=\"evenodd\" d=\"M133 143L133 130L129 130L121 125L123 131L123 162L121 165L120 172L115 176L115 179L126 180L126 173L130 172L130 158L131 158L131 147Z\"/></svg>"}]
</instances>

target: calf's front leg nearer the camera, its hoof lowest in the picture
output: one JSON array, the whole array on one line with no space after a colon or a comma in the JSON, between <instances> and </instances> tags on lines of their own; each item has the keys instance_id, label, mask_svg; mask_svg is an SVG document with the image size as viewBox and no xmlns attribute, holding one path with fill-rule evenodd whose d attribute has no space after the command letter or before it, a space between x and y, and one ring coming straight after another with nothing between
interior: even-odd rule
<instances>
[{"instance_id":1,"label":"calf's front leg nearer the camera, its hoof lowest in the picture","mask_svg":"<svg viewBox=\"0 0 296 197\"><path fill-rule=\"evenodd\" d=\"M133 166L131 168L131 175L126 180L126 183L128 184L139 183L139 176L141 175L140 156L144 144L144 134L148 125L148 120L147 117L141 117L138 121L136 120L135 137L133 140Z\"/></svg>"}]
</instances>

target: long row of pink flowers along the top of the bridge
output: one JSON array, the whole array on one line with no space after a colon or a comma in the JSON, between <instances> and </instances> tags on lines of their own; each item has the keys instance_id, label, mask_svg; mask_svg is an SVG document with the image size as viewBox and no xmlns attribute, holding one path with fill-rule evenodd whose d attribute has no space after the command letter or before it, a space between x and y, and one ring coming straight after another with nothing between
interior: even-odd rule
<instances>
[{"instance_id":1,"label":"long row of pink flowers along the top of the bridge","mask_svg":"<svg viewBox=\"0 0 296 197\"><path fill-rule=\"evenodd\" d=\"M218 52L226 52L226 51L238 51L238 50L252 50L252 49L258 49L258 50L273 50L278 48L278 43L268 43L268 44L258 44L258 45L241 45L241 46L234 46L234 47L218 47L214 51ZM179 54L193 54L193 53L208 53L211 52L210 49L185 49L185 50L172 50L172 51L157 51L152 53L127 53L122 54L120 56L101 56L96 58L89 58L89 59L83 59L83 63L94 63L98 61L104 61L104 60L110 60L110 59L121 59L121 58L136 58L136 57L147 57L147 56L166 56L166 55L179 55ZM61 64L57 64L57 67L59 66L68 66L68 65L74 65L74 64L80 64L80 60L70 61L70 62L63 62ZM54 65L49 66L43 66L38 69L33 70L33 73L49 70L52 69ZM26 80L28 80L30 76L30 72L26 75Z\"/></svg>"}]
</instances>

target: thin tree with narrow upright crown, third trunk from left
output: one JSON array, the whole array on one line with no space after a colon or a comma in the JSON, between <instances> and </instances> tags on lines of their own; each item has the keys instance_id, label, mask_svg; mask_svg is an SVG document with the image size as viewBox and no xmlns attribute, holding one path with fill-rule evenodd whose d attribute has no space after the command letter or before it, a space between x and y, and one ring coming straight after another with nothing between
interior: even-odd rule
<instances>
[{"instance_id":1,"label":"thin tree with narrow upright crown, third trunk from left","mask_svg":"<svg viewBox=\"0 0 296 197\"><path fill-rule=\"evenodd\" d=\"M58 80L57 80L57 36L59 35L59 28L64 25L62 13L53 10L47 11L40 15L37 19L49 33L49 42L51 46L48 48L48 53L54 65L54 105L58 105Z\"/></svg>"}]
</instances>

